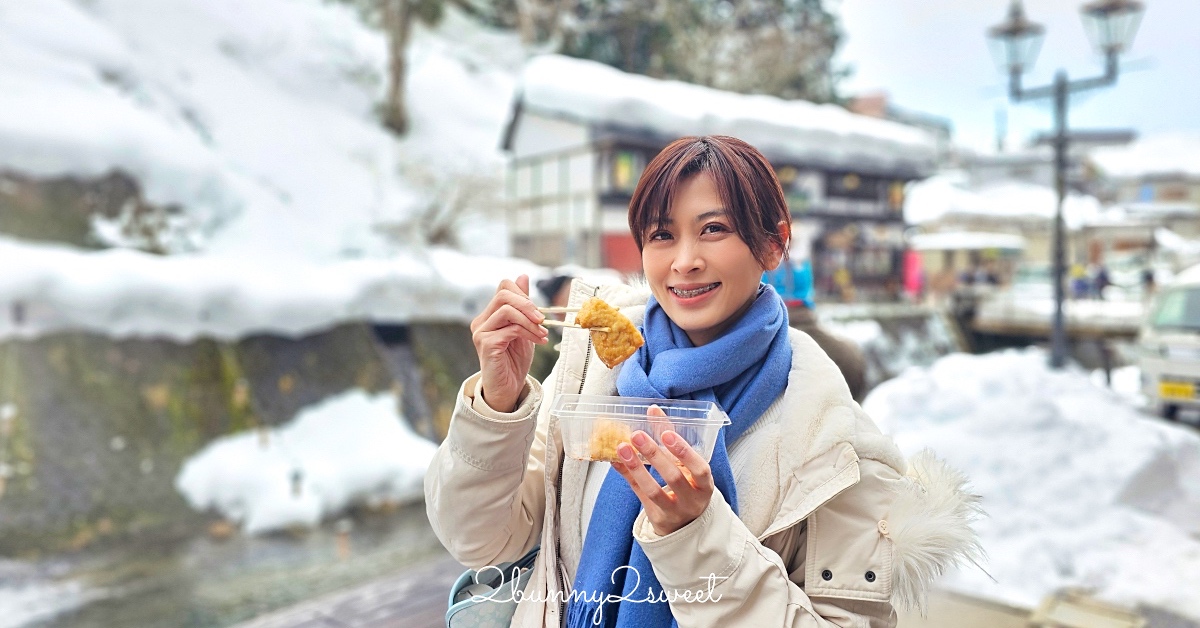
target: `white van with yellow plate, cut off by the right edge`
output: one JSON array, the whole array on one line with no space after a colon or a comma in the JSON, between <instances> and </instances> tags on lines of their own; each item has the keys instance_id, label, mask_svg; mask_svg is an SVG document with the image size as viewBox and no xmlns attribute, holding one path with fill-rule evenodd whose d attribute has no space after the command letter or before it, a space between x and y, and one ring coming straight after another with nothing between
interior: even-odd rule
<instances>
[{"instance_id":1,"label":"white van with yellow plate, cut off by the right edge","mask_svg":"<svg viewBox=\"0 0 1200 628\"><path fill-rule=\"evenodd\" d=\"M1151 407L1168 419L1200 408L1200 267L1163 286L1146 309L1139 345Z\"/></svg>"}]
</instances>

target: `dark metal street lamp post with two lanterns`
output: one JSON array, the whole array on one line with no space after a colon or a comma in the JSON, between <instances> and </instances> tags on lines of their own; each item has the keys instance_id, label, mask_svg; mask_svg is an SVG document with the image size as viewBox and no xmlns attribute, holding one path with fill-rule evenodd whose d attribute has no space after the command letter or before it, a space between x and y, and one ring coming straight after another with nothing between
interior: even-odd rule
<instances>
[{"instance_id":1,"label":"dark metal street lamp post with two lanterns","mask_svg":"<svg viewBox=\"0 0 1200 628\"><path fill-rule=\"evenodd\" d=\"M1075 91L1111 85L1117 80L1117 58L1133 42L1141 23L1142 4L1136 0L1094 0L1081 8L1084 26L1097 52L1104 55L1104 74L1069 80L1060 70L1054 83L1038 88L1021 86L1025 73L1038 56L1045 28L1025 17L1021 0L1013 0L1008 18L990 29L988 37L997 62L1008 71L1008 97L1014 102L1054 98L1054 163L1055 191L1058 204L1054 219L1054 323L1050 331L1050 366L1061 369L1067 363L1067 329L1063 324L1063 275L1066 274L1066 243L1062 205L1067 197L1067 98Z\"/></svg>"}]
</instances>

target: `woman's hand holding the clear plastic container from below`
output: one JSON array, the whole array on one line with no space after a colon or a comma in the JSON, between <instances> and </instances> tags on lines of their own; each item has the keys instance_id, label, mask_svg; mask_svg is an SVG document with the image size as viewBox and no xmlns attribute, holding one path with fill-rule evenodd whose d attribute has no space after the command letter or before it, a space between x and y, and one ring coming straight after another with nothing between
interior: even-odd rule
<instances>
[{"instance_id":1,"label":"woman's hand holding the clear plastic container from below","mask_svg":"<svg viewBox=\"0 0 1200 628\"><path fill-rule=\"evenodd\" d=\"M667 485L659 485L629 443L617 445L620 460L613 462L612 468L641 500L654 532L666 536L695 521L713 497L713 472L708 462L673 431L662 433L666 447L659 447L641 430L634 432L632 443Z\"/></svg>"}]
</instances>

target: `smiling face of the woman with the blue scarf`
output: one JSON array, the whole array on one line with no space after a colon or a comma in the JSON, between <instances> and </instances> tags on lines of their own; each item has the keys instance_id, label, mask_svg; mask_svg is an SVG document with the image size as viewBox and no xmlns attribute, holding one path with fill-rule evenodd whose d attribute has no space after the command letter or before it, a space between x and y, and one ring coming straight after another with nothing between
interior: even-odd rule
<instances>
[{"instance_id":1,"label":"smiling face of the woman with the blue scarf","mask_svg":"<svg viewBox=\"0 0 1200 628\"><path fill-rule=\"evenodd\" d=\"M770 269L780 253L772 251ZM646 234L642 270L662 310L698 347L750 309L768 269L733 231L716 184L701 172L676 190L667 222Z\"/></svg>"}]
</instances>

